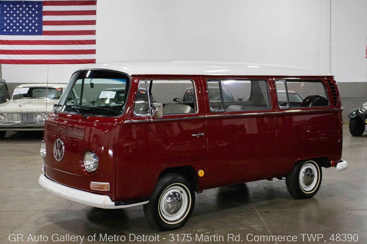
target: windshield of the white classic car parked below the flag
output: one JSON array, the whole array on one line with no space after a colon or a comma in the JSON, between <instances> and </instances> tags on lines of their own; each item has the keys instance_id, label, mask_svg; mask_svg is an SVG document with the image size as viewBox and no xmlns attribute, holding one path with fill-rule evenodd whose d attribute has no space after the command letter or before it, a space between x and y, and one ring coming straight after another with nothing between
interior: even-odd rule
<instances>
[{"instance_id":1,"label":"windshield of the white classic car parked below the flag","mask_svg":"<svg viewBox=\"0 0 367 244\"><path fill-rule=\"evenodd\" d=\"M51 98L58 100L61 97L62 89L55 87L22 87L15 88L12 100L23 98Z\"/></svg>"}]
</instances>

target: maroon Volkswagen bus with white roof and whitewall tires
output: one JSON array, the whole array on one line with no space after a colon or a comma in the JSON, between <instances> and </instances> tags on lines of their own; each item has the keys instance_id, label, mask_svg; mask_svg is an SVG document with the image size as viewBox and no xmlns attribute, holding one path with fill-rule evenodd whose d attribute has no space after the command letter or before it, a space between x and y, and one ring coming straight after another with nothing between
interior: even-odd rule
<instances>
[{"instance_id":1,"label":"maroon Volkswagen bus with white roof and whitewall tires","mask_svg":"<svg viewBox=\"0 0 367 244\"><path fill-rule=\"evenodd\" d=\"M39 183L94 207L143 205L162 230L184 225L204 189L277 178L310 198L321 167L347 168L342 109L333 76L316 70L92 64L75 71L46 120Z\"/></svg>"}]
</instances>

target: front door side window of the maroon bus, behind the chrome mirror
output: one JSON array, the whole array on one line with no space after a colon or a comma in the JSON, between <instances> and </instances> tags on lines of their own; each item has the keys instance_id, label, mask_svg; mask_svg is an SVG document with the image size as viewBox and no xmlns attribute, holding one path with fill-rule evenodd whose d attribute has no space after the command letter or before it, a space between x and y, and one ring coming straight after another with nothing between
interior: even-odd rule
<instances>
[{"instance_id":1,"label":"front door side window of the maroon bus, behind the chrome mirror","mask_svg":"<svg viewBox=\"0 0 367 244\"><path fill-rule=\"evenodd\" d=\"M163 105L163 115L197 111L195 86L192 80L146 80L146 84L145 80L141 80L134 105L136 115L150 114L148 94L150 102L159 102Z\"/></svg>"}]
</instances>

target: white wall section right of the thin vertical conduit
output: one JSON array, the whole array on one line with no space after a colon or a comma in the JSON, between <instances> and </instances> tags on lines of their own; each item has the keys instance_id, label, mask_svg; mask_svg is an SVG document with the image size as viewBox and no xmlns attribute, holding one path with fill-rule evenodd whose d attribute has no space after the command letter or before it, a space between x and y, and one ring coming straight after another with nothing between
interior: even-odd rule
<instances>
[{"instance_id":1,"label":"white wall section right of the thin vertical conduit","mask_svg":"<svg viewBox=\"0 0 367 244\"><path fill-rule=\"evenodd\" d=\"M367 81L366 45L367 1L332 0L331 72L339 82Z\"/></svg>"}]
</instances>

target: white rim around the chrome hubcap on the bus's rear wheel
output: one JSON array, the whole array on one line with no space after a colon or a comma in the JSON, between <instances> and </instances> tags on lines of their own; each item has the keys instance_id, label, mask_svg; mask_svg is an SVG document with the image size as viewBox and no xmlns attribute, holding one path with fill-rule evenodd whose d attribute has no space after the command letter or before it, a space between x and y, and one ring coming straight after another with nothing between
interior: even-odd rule
<instances>
[{"instance_id":1,"label":"white rim around the chrome hubcap on the bus's rear wheel","mask_svg":"<svg viewBox=\"0 0 367 244\"><path fill-rule=\"evenodd\" d=\"M320 182L319 171L320 168L315 161L310 160L302 165L301 170L299 170L298 182L303 192L310 194L316 190ZM311 182L307 179L310 173L313 173L313 180Z\"/></svg>"}]
</instances>

